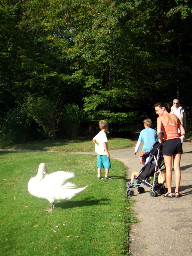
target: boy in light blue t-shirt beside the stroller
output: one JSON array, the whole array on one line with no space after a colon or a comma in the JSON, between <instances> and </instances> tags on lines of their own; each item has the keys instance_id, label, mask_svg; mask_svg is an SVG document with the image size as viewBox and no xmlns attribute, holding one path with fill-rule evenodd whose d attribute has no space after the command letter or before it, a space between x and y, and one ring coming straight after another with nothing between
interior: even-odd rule
<instances>
[{"instance_id":1,"label":"boy in light blue t-shirt beside the stroller","mask_svg":"<svg viewBox=\"0 0 192 256\"><path fill-rule=\"evenodd\" d=\"M137 153L137 151L140 147L140 144L143 141L144 145L143 145L143 148L141 149L141 154L140 154L140 157L139 157L141 164L145 164L146 158L149 155L149 154L145 154L145 153L149 153L153 143L155 141L159 140L156 130L151 128L151 126L152 126L151 119L149 119L149 118L144 119L143 124L144 124L145 129L143 129L140 132L139 139L138 139L137 144L135 146L135 152L134 152L134 154L136 155L136 153Z\"/></svg>"}]
</instances>

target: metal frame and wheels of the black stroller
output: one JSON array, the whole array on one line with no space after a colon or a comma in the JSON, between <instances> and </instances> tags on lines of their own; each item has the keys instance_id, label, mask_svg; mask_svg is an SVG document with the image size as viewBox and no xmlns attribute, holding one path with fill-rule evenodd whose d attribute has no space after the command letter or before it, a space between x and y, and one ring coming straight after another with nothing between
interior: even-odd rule
<instances>
[{"instance_id":1,"label":"metal frame and wheels of the black stroller","mask_svg":"<svg viewBox=\"0 0 192 256\"><path fill-rule=\"evenodd\" d=\"M140 175L146 170L146 166L147 166L148 164L152 164L153 159L154 159L154 156L156 155L156 154L152 154L152 153L154 153L154 147L155 147L155 146L157 146L157 148L156 148L156 151L157 151L157 157L156 157L157 162L156 162L156 164L155 164L154 175L151 176L151 177L153 177L153 184L151 184L151 183L149 182L149 177L146 177L146 179L141 179L141 178L140 178ZM135 180L140 180L140 182L141 182L141 183L139 183L139 184L134 184L134 186L137 187L137 191L138 191L140 194L142 194L142 193L145 192L145 189L144 189L143 187L140 187L141 184L143 184L143 185L145 185L145 186L151 188L151 190L152 190L152 191L150 192L150 196L151 196L151 197L156 197L158 194L161 195L161 194L165 194L165 193L167 192L167 188L165 188L164 184L159 184L159 183L158 183L158 175L157 175L157 172L159 171L159 167L158 167L157 164L158 164L158 160L159 160L159 158L160 158L160 156L161 156L161 155L160 155L161 152L162 152L162 144L159 143L158 141L154 142L154 144L152 145L152 148L151 148L151 150L150 150L150 155L149 155L149 161L148 161L148 163L145 164L145 165L141 168L141 170L140 170L139 174L137 175L137 177L135 177L135 179L133 180L133 182L131 182L131 183L127 186L127 196L134 196L134 191L133 191L132 189L130 190L130 188L132 188L132 185L133 185L133 183L134 183ZM163 161L163 164L164 164L164 161ZM153 171L152 171L152 172L153 172Z\"/></svg>"}]
</instances>

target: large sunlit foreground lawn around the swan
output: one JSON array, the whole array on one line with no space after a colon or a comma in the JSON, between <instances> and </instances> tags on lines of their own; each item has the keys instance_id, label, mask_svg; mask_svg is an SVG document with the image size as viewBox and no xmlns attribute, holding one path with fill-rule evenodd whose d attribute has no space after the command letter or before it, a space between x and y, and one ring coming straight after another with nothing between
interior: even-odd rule
<instances>
[{"instance_id":1,"label":"large sunlit foreground lawn around the swan","mask_svg":"<svg viewBox=\"0 0 192 256\"><path fill-rule=\"evenodd\" d=\"M129 255L127 231L135 220L123 163L111 159L114 180L97 180L92 155L0 152L0 162L2 256ZM71 201L55 204L54 212L45 212L50 203L31 196L27 188L40 163L47 164L48 173L75 172L70 181L88 188Z\"/></svg>"}]
</instances>

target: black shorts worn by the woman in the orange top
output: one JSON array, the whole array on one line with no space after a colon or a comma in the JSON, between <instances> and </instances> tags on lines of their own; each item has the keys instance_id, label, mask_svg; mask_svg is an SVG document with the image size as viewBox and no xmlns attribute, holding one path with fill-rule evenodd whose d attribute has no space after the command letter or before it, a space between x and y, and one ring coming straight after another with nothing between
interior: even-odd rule
<instances>
[{"instance_id":1,"label":"black shorts worn by the woman in the orange top","mask_svg":"<svg viewBox=\"0 0 192 256\"><path fill-rule=\"evenodd\" d=\"M178 139L170 139L165 140L163 143L163 155L164 156L172 156L173 154L182 154L183 148L181 140Z\"/></svg>"}]
</instances>

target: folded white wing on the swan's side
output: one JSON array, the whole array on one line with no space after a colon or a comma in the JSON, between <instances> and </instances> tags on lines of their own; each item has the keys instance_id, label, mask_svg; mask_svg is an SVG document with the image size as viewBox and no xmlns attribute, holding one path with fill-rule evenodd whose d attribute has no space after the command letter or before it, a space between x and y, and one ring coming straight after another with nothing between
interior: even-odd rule
<instances>
[{"instance_id":1,"label":"folded white wing on the swan's side","mask_svg":"<svg viewBox=\"0 0 192 256\"><path fill-rule=\"evenodd\" d=\"M53 172L46 175L44 179L41 180L41 185L49 188L62 187L64 184L67 183L69 179L74 177L75 177L74 172L64 172L64 171Z\"/></svg>"}]
</instances>

